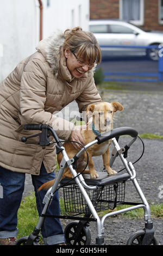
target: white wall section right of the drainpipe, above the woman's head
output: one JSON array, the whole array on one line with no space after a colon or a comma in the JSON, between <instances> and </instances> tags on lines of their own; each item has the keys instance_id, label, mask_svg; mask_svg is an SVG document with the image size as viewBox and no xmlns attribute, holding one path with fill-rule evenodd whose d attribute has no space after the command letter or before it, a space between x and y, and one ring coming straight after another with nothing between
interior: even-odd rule
<instances>
[{"instance_id":1,"label":"white wall section right of the drainpipe, above the woman's head","mask_svg":"<svg viewBox=\"0 0 163 256\"><path fill-rule=\"evenodd\" d=\"M57 30L80 26L89 29L89 0L47 0L43 2L43 38Z\"/></svg>"}]
</instances>

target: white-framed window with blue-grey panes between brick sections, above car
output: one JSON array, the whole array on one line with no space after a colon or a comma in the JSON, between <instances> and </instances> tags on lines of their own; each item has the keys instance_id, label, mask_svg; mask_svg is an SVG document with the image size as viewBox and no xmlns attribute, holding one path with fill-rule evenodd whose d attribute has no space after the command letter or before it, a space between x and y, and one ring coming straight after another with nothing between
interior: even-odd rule
<instances>
[{"instance_id":1,"label":"white-framed window with blue-grey panes between brick sections, above car","mask_svg":"<svg viewBox=\"0 0 163 256\"><path fill-rule=\"evenodd\" d=\"M120 0L120 19L134 25L143 25L144 0Z\"/></svg>"}]
</instances>

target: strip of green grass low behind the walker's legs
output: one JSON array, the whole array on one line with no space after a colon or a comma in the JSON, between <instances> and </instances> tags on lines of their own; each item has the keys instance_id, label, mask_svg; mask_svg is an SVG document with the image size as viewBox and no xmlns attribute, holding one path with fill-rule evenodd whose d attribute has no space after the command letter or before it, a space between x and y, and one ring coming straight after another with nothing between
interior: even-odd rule
<instances>
[{"instance_id":1,"label":"strip of green grass low behind the walker's legs","mask_svg":"<svg viewBox=\"0 0 163 256\"><path fill-rule=\"evenodd\" d=\"M126 205L118 205L115 210L120 210L129 207ZM162 204L152 204L151 206L152 218L163 218L163 203ZM60 214L67 215L64 209L64 199L60 199ZM108 211L107 211L108 212ZM106 212L99 213L99 216L103 216ZM136 209L133 211L125 212L121 214L124 218L143 218L143 209ZM29 196L25 197L18 210L18 236L28 236L34 230L39 216L36 209L35 195L34 192L30 193Z\"/></svg>"}]
</instances>

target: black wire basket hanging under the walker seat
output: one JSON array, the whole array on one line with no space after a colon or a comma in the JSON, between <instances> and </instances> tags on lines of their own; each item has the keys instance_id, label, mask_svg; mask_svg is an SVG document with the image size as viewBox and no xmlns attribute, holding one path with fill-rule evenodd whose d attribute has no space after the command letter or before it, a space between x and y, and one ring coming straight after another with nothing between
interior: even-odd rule
<instances>
[{"instance_id":1,"label":"black wire basket hanging under the walker seat","mask_svg":"<svg viewBox=\"0 0 163 256\"><path fill-rule=\"evenodd\" d=\"M116 208L117 205L124 203L125 181L117 182L98 187L98 190L87 190L93 206L97 212ZM65 211L77 214L90 214L91 211L77 185L64 187Z\"/></svg>"}]
</instances>

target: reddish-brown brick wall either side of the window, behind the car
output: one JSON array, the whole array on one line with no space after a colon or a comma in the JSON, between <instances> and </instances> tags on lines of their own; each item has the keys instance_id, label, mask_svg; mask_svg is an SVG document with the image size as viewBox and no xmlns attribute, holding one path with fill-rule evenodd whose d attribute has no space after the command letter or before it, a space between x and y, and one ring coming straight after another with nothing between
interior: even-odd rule
<instances>
[{"instance_id":1,"label":"reddish-brown brick wall either side of the window, behind the car","mask_svg":"<svg viewBox=\"0 0 163 256\"><path fill-rule=\"evenodd\" d=\"M159 0L144 0L144 22L139 26L146 31L163 31L159 24ZM90 0L90 19L120 19L119 0Z\"/></svg>"}]
</instances>

